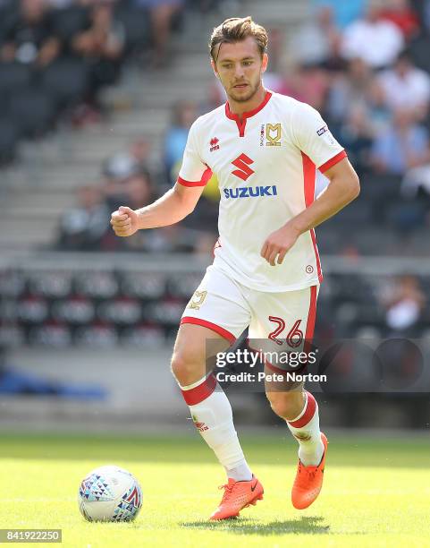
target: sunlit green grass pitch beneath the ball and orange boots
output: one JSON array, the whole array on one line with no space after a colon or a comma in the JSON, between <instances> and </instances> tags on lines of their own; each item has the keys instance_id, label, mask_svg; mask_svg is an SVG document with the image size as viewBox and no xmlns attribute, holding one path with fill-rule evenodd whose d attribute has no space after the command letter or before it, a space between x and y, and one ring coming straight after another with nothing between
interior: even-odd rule
<instances>
[{"instance_id":1,"label":"sunlit green grass pitch beneath the ball and orange boots","mask_svg":"<svg viewBox=\"0 0 430 548\"><path fill-rule=\"evenodd\" d=\"M430 440L329 439L323 492L299 512L290 501L295 442L281 429L276 437L244 436L265 500L240 519L208 523L224 476L197 432L145 439L0 435L0 528L62 528L63 546L91 548L430 546ZM135 522L81 518L80 480L103 464L139 478L144 504Z\"/></svg>"}]
</instances>

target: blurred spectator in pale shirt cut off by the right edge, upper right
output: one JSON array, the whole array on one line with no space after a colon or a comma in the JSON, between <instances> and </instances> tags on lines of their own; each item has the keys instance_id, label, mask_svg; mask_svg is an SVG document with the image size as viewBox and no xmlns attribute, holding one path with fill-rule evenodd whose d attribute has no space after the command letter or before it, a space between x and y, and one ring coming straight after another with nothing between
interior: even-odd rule
<instances>
[{"instance_id":1,"label":"blurred spectator in pale shirt cut off by the right edge, upper right","mask_svg":"<svg viewBox=\"0 0 430 548\"><path fill-rule=\"evenodd\" d=\"M410 108L426 117L430 102L430 76L412 64L407 53L397 58L394 66L379 76L384 98L392 109Z\"/></svg>"}]
</instances>

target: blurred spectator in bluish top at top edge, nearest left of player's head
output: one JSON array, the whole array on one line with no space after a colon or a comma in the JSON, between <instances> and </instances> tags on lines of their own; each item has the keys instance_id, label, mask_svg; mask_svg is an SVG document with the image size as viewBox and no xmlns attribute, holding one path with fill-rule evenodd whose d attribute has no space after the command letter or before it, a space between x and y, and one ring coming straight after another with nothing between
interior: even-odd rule
<instances>
[{"instance_id":1,"label":"blurred spectator in bluish top at top edge, nearest left of player's head","mask_svg":"<svg viewBox=\"0 0 430 548\"><path fill-rule=\"evenodd\" d=\"M166 49L173 18L181 12L183 0L133 0L133 4L150 13L155 47L152 64L155 68L161 67L166 62Z\"/></svg>"}]
</instances>

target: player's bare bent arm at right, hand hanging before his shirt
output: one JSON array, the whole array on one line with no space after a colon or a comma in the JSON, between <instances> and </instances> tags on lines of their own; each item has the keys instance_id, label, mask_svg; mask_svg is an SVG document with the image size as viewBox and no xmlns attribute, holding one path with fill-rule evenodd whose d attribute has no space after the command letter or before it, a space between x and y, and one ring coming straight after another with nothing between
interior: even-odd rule
<instances>
[{"instance_id":1,"label":"player's bare bent arm at right, hand hanging before his shirt","mask_svg":"<svg viewBox=\"0 0 430 548\"><path fill-rule=\"evenodd\" d=\"M299 215L291 218L283 227L275 230L266 238L261 249L261 256L272 266L275 265L276 255L278 264L281 264L286 253L296 243L299 235L317 227L327 218L333 217L350 201L358 197L360 186L358 175L350 165L348 158L325 171L330 183L315 201Z\"/></svg>"}]
</instances>

